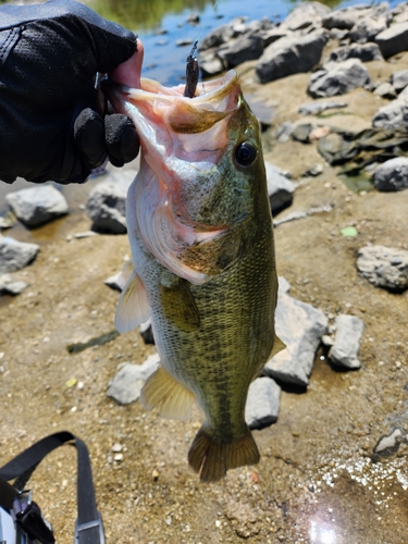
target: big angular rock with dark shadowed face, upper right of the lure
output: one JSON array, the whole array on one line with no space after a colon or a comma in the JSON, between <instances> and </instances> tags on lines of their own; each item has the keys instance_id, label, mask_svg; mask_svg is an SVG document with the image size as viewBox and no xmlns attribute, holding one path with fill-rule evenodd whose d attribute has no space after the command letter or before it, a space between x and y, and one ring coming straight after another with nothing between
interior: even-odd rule
<instances>
[{"instance_id":1,"label":"big angular rock with dark shadowed face, upper right of the lure","mask_svg":"<svg viewBox=\"0 0 408 544\"><path fill-rule=\"evenodd\" d=\"M319 63L326 35L322 30L306 36L287 36L263 51L256 67L261 83L308 72Z\"/></svg>"}]
</instances>

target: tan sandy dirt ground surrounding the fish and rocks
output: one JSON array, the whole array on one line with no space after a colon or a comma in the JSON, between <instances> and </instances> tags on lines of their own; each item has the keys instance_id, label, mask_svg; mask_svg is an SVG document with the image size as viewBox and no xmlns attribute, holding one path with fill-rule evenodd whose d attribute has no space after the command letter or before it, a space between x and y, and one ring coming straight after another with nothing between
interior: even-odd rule
<instances>
[{"instance_id":1,"label":"tan sandy dirt ground surrounding the fish and rocks","mask_svg":"<svg viewBox=\"0 0 408 544\"><path fill-rule=\"evenodd\" d=\"M374 81L385 82L407 60L405 53L366 65ZM332 211L275 230L277 272L294 297L321 308L331 322L338 312L363 320L361 369L335 371L320 350L307 392L286 387L277 422L255 432L260 463L233 470L221 483L200 484L187 465L199 413L175 422L147 413L139 403L119 406L107 397L120 364L154 353L138 331L67 351L72 343L113 331L118 293L103 281L129 255L126 236L66 240L90 227L77 205L91 184L69 187L71 215L35 231L8 232L36 240L40 252L15 273L28 288L0 299L0 463L47 434L78 434L89 446L108 544L407 542L407 446L379 462L372 453L394 428L408 432L408 292L392 294L360 277L356 254L368 243L408 249L408 190L351 193L316 145L275 141L279 124L298 122L298 107L310 101L308 74L259 86L252 64L239 72L244 89L273 107L265 158L296 181L316 163L324 165L322 175L301 178L293 206L279 219L310 207L330 205ZM342 113L313 123L369 126L386 103L363 89L339 99L349 104ZM357 237L342 236L348 225ZM72 379L77 383L69 386ZM114 444L123 448L121 461L114 460ZM74 450L61 448L30 480L60 544L73 539L75 462Z\"/></svg>"}]
</instances>

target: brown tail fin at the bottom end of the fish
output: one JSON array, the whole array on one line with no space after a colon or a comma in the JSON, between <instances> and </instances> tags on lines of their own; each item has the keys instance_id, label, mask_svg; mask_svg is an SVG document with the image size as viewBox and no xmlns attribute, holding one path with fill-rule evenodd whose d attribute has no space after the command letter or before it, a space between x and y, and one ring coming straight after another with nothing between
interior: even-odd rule
<instances>
[{"instance_id":1,"label":"brown tail fin at the bottom end of the fish","mask_svg":"<svg viewBox=\"0 0 408 544\"><path fill-rule=\"evenodd\" d=\"M219 444L202 428L188 452L189 466L200 472L201 482L218 482L228 469L256 465L260 455L254 436L247 428L244 436L228 444Z\"/></svg>"}]
</instances>

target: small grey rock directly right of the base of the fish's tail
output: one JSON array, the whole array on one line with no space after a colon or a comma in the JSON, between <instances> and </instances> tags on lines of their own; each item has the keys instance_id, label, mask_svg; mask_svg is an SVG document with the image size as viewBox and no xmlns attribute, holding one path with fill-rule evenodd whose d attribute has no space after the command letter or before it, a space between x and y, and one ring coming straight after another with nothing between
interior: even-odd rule
<instances>
[{"instance_id":1,"label":"small grey rock directly right of the base of the fish's tail","mask_svg":"<svg viewBox=\"0 0 408 544\"><path fill-rule=\"evenodd\" d=\"M270 378L258 378L248 391L245 421L249 429L264 429L277 420L281 387Z\"/></svg>"}]
</instances>

